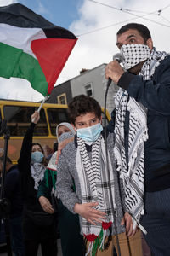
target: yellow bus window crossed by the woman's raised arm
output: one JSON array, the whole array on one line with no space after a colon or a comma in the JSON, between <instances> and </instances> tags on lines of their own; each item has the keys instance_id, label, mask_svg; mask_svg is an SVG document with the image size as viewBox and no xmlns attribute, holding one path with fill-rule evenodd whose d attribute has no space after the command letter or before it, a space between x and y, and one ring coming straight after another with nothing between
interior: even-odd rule
<instances>
[{"instance_id":1,"label":"yellow bus window crossed by the woman's raised arm","mask_svg":"<svg viewBox=\"0 0 170 256\"><path fill-rule=\"evenodd\" d=\"M35 107L8 106L3 107L4 118L10 131L10 136L25 136L28 127L31 124L31 114L34 113ZM44 110L41 110L40 120L35 127L34 136L47 136L48 126Z\"/></svg>"}]
</instances>

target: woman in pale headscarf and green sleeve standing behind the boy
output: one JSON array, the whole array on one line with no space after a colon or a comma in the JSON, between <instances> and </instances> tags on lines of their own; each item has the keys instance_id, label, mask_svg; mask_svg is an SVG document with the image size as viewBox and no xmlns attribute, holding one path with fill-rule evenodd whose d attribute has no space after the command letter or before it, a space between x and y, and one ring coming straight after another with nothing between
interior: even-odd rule
<instances>
[{"instance_id":1,"label":"woman in pale headscarf and green sleeve standing behind the boy","mask_svg":"<svg viewBox=\"0 0 170 256\"><path fill-rule=\"evenodd\" d=\"M56 135L58 142L61 143L65 140L72 140L75 136L75 130L69 123L60 123L56 128ZM57 206L55 206L55 201L51 203L48 199L51 193L54 198L57 177L56 157L57 152L55 152L49 160L48 169L45 172L45 177L42 183L40 183L37 192L37 198L45 212L53 213L55 208L58 212L58 229L63 256L83 256L85 253L85 246L83 236L80 235L78 215L72 214L60 200L57 202ZM46 182L46 176L51 177L51 183Z\"/></svg>"}]
</instances>

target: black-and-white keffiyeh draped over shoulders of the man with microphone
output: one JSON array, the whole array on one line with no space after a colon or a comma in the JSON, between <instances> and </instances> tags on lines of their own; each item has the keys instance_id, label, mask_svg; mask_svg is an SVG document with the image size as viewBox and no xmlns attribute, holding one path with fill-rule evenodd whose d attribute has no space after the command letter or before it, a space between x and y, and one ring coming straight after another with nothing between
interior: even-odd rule
<instances>
[{"instance_id":1,"label":"black-and-white keffiyeh draped over shoulders of the man with microphone","mask_svg":"<svg viewBox=\"0 0 170 256\"><path fill-rule=\"evenodd\" d=\"M167 56L165 52L152 49L150 58L144 63L139 75L144 80L150 80L156 67ZM144 214L144 142L148 139L147 109L128 96L127 91L120 88L115 96L116 124L115 148L117 171L120 172L125 190L126 210L133 217L133 228L139 224L141 214ZM125 117L129 111L128 160L125 152ZM139 228L143 230L143 227ZM144 231L144 230L143 230Z\"/></svg>"}]
</instances>

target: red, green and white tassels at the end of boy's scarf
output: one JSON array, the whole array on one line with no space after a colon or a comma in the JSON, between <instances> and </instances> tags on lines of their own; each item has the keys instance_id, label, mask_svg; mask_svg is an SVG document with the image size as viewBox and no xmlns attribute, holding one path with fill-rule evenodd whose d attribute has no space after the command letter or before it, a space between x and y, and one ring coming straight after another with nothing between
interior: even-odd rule
<instances>
[{"instance_id":1,"label":"red, green and white tassels at the end of boy's scarf","mask_svg":"<svg viewBox=\"0 0 170 256\"><path fill-rule=\"evenodd\" d=\"M102 229L99 232L99 236L96 236L94 234L84 234L85 239L89 241L88 252L85 256L88 256L88 254L90 256L95 256L98 250L103 251L109 247L109 244L111 243L111 225L112 222L103 222ZM107 230L110 231L110 234L108 236L107 242L105 243Z\"/></svg>"}]
</instances>

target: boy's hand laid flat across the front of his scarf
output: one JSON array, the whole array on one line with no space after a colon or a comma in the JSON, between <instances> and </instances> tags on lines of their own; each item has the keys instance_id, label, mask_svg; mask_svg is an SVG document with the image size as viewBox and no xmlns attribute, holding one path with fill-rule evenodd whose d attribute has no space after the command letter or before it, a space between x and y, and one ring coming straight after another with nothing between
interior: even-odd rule
<instances>
[{"instance_id":1,"label":"boy's hand laid flat across the front of his scarf","mask_svg":"<svg viewBox=\"0 0 170 256\"><path fill-rule=\"evenodd\" d=\"M105 212L100 212L92 207L96 207L98 202L90 202L84 204L75 204L74 211L77 212L82 218L87 219L91 224L96 225L95 222L102 223L105 220Z\"/></svg>"}]
</instances>

